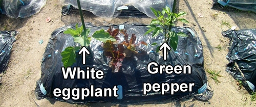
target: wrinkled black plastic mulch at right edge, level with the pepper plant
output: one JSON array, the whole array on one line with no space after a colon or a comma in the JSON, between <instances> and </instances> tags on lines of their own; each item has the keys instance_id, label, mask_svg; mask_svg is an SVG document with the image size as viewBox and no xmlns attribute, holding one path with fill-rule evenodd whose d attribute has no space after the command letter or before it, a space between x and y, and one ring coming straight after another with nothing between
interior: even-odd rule
<instances>
[{"instance_id":1,"label":"wrinkled black plastic mulch at right edge, level with the pepper plant","mask_svg":"<svg viewBox=\"0 0 256 107\"><path fill-rule=\"evenodd\" d=\"M230 47L227 54L229 63L226 71L230 73L233 78L243 81L245 88L250 90L246 81L256 86L256 30L227 30L222 32L222 35L230 38ZM235 62L244 77L239 69L237 69Z\"/></svg>"}]
</instances>

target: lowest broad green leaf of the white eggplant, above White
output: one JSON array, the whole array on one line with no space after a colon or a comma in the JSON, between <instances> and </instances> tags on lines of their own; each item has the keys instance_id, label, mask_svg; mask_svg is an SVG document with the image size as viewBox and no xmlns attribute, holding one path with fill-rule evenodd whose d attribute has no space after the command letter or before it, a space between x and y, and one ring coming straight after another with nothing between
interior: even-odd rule
<instances>
[{"instance_id":1,"label":"lowest broad green leaf of the white eggplant, above White","mask_svg":"<svg viewBox=\"0 0 256 107\"><path fill-rule=\"evenodd\" d=\"M61 52L62 62L65 68L72 66L76 62L75 48L72 46L66 47L64 51Z\"/></svg>"}]
</instances>

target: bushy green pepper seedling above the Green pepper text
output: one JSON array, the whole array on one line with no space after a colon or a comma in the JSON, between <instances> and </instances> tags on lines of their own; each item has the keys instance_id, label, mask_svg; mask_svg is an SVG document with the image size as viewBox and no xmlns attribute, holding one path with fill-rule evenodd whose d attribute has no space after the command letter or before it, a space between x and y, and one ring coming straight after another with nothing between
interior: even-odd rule
<instances>
[{"instance_id":1,"label":"bushy green pepper seedling above the Green pepper text","mask_svg":"<svg viewBox=\"0 0 256 107\"><path fill-rule=\"evenodd\" d=\"M185 12L180 12L178 14L173 13L170 11L170 8L167 6L163 8L163 10L156 11L154 8L151 8L152 12L155 14L157 19L153 19L147 27L150 28L144 35L153 32L152 37L156 37L159 35L159 33L162 33L164 35L164 41L166 43L169 43L169 45L176 50L178 45L178 35L187 37L184 33L176 33L174 31L171 31L172 26L175 26L175 21L181 21L184 23L188 23L188 21L184 18L180 18L181 16L186 15ZM152 45L159 45L157 43L153 43ZM160 44L161 45L161 44ZM159 47L157 47L156 52L159 51Z\"/></svg>"}]
</instances>

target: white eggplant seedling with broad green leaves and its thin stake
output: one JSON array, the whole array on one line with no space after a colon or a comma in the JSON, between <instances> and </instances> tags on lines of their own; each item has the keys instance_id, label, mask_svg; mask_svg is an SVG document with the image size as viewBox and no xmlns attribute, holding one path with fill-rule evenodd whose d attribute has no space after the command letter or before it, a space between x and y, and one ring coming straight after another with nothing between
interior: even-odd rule
<instances>
[{"instance_id":1,"label":"white eggplant seedling with broad green leaves and its thin stake","mask_svg":"<svg viewBox=\"0 0 256 107\"><path fill-rule=\"evenodd\" d=\"M63 66L65 68L72 66L76 62L76 51L79 51L81 47L86 46L89 47L91 37L88 37L88 34L90 33L90 29L86 29L86 25L84 24L83 16L82 16L82 10L80 6L80 1L77 0L77 5L82 21L82 26L78 27L78 24L76 24L75 30L68 29L67 31L64 31L64 34L70 34L74 38L74 42L79 43L78 46L69 46L66 47L64 51L61 52L62 62ZM93 36L94 39L100 40L100 41L116 41L114 37L110 36L109 33L104 32L104 30L96 31Z\"/></svg>"}]
</instances>

